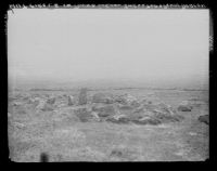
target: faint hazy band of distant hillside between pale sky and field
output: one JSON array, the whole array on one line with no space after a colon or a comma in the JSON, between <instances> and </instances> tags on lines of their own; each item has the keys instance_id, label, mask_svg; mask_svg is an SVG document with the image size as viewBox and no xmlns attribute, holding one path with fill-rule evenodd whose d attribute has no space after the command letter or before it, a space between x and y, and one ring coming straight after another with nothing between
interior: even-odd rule
<instances>
[{"instance_id":1,"label":"faint hazy band of distant hillside between pale sky and field","mask_svg":"<svg viewBox=\"0 0 217 171\"><path fill-rule=\"evenodd\" d=\"M148 80L86 80L86 81L60 81L49 79L14 79L9 80L10 89L22 90L66 90L86 87L89 89L186 89L186 90L208 90L206 81L148 81Z\"/></svg>"}]
</instances>

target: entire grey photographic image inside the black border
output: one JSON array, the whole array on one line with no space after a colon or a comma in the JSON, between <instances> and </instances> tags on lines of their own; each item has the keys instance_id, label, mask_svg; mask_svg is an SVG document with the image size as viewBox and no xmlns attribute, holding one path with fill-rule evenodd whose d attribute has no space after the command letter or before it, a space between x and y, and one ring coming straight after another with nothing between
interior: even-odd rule
<instances>
[{"instance_id":1,"label":"entire grey photographic image inside the black border","mask_svg":"<svg viewBox=\"0 0 217 171\"><path fill-rule=\"evenodd\" d=\"M209 158L209 10L8 11L14 162Z\"/></svg>"}]
</instances>

